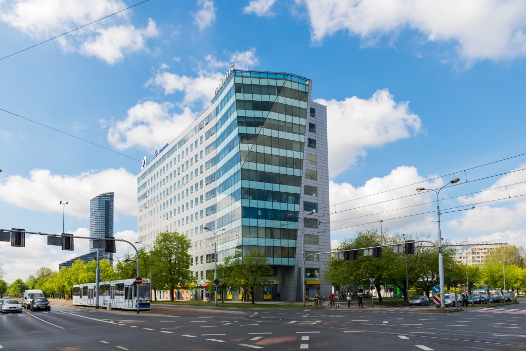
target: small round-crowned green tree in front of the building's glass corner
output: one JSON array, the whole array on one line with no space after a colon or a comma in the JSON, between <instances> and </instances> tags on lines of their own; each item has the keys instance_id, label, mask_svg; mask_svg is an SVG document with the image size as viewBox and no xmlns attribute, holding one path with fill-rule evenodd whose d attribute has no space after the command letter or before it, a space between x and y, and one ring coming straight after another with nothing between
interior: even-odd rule
<instances>
[{"instance_id":1,"label":"small round-crowned green tree in front of the building's glass corner","mask_svg":"<svg viewBox=\"0 0 526 351\"><path fill-rule=\"evenodd\" d=\"M235 260L234 269L234 275L237 279L250 289L252 304L255 304L255 291L270 285L270 281L273 279L274 269L268 264L268 258L261 250L251 250L247 256Z\"/></svg>"}]
</instances>

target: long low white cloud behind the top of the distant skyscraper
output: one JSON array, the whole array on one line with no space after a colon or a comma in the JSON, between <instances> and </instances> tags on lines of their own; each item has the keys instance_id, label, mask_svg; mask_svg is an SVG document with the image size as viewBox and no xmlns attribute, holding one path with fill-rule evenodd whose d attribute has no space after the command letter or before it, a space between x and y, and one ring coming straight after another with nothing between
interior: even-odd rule
<instances>
[{"instance_id":1,"label":"long low white cloud behind the top of the distant skyscraper","mask_svg":"<svg viewBox=\"0 0 526 351\"><path fill-rule=\"evenodd\" d=\"M53 175L47 169L33 169L29 177L9 176L0 180L3 202L33 211L60 213L60 200L67 201L67 215L89 217L89 200L115 193L115 214L136 215L135 175L124 168L85 172L77 176Z\"/></svg>"}]
</instances>

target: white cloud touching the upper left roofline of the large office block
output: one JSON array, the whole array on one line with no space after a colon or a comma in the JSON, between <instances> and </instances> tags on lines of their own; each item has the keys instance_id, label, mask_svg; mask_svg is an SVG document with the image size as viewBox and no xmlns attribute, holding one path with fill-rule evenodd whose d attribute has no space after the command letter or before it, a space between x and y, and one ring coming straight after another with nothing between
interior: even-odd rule
<instances>
[{"instance_id":1,"label":"white cloud touching the upper left roofline of the large office block","mask_svg":"<svg viewBox=\"0 0 526 351\"><path fill-rule=\"evenodd\" d=\"M187 107L181 114L170 114L168 111L171 108L173 104L153 101L131 107L124 121L118 121L109 128L109 143L120 150L133 146L153 150L173 141L197 114Z\"/></svg>"}]
</instances>

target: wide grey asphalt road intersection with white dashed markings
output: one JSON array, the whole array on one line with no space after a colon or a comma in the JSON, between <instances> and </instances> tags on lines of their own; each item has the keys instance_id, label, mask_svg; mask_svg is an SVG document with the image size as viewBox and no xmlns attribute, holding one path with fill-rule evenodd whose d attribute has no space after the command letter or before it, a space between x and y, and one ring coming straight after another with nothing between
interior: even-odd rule
<instances>
[{"instance_id":1,"label":"wide grey asphalt road intersection with white dashed markings","mask_svg":"<svg viewBox=\"0 0 526 351\"><path fill-rule=\"evenodd\" d=\"M173 308L171 316L54 306L0 316L5 350L524 350L526 304L451 314L418 307L238 309ZM153 311L155 312L155 311Z\"/></svg>"}]
</instances>

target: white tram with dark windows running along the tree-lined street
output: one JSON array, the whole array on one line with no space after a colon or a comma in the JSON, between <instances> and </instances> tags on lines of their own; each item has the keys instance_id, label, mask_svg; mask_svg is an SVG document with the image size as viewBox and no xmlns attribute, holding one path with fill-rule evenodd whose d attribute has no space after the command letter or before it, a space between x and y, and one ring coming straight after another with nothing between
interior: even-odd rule
<instances>
[{"instance_id":1,"label":"white tram with dark windows running along the tree-lined street","mask_svg":"<svg viewBox=\"0 0 526 351\"><path fill-rule=\"evenodd\" d=\"M143 283L136 285L135 279L112 280L99 282L99 307L106 307L108 303L112 308L150 309L150 280L143 279ZM73 305L95 306L95 283L77 284L73 286Z\"/></svg>"}]
</instances>

